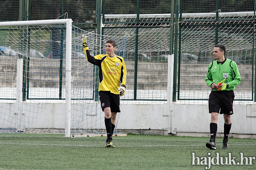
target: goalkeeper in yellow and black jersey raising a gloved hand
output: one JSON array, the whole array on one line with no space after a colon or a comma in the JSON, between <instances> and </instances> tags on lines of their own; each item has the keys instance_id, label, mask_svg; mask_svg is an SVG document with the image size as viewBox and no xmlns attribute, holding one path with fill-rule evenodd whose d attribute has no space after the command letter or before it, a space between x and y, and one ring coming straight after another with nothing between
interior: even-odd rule
<instances>
[{"instance_id":1,"label":"goalkeeper in yellow and black jersey raising a gloved hand","mask_svg":"<svg viewBox=\"0 0 256 170\"><path fill-rule=\"evenodd\" d=\"M99 100L105 113L105 126L108 139L106 147L113 146L113 131L116 114L120 112L120 96L125 94L126 67L122 57L115 54L116 42L108 40L105 45L107 54L91 56L87 47L87 36L82 36L84 54L88 62L99 66Z\"/></svg>"}]
</instances>

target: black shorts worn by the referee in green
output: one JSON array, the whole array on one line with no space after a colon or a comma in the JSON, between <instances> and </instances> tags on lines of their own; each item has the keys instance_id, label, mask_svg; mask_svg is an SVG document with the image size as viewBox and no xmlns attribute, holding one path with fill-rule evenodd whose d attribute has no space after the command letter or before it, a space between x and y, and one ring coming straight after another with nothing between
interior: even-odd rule
<instances>
[{"instance_id":1,"label":"black shorts worn by the referee in green","mask_svg":"<svg viewBox=\"0 0 256 170\"><path fill-rule=\"evenodd\" d=\"M209 113L233 114L234 91L212 91L209 95Z\"/></svg>"}]
</instances>

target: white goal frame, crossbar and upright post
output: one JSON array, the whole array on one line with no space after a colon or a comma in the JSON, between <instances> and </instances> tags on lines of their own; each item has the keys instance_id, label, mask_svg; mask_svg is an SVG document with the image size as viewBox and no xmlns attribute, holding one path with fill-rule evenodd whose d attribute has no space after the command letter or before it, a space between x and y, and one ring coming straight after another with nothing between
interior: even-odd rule
<instances>
[{"instance_id":1,"label":"white goal frame, crossbar and upright post","mask_svg":"<svg viewBox=\"0 0 256 170\"><path fill-rule=\"evenodd\" d=\"M66 25L65 137L70 137L72 22L73 22L72 19L0 22L0 26L38 26L38 25L44 26L44 25L52 25L52 24ZM20 87L17 87L17 89L18 88ZM17 97L18 96L20 95L17 95Z\"/></svg>"}]
</instances>

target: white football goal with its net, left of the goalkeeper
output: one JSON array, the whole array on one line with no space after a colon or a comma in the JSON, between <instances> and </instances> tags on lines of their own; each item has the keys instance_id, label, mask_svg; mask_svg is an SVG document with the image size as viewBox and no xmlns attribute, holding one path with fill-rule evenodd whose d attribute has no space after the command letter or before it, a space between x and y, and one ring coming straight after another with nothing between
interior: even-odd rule
<instances>
[{"instance_id":1,"label":"white football goal with its net, left of the goalkeeper","mask_svg":"<svg viewBox=\"0 0 256 170\"><path fill-rule=\"evenodd\" d=\"M124 56L126 39L100 36L71 22L1 22L1 133L105 132L97 68L85 59L81 35L89 36L93 55L102 53L102 44L112 38L117 55Z\"/></svg>"}]
</instances>

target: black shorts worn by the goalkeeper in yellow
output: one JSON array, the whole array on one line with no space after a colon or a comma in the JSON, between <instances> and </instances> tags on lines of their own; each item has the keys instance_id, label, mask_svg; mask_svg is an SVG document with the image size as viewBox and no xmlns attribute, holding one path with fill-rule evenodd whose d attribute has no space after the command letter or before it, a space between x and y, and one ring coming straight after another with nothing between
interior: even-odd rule
<instances>
[{"instance_id":1,"label":"black shorts worn by the goalkeeper in yellow","mask_svg":"<svg viewBox=\"0 0 256 170\"><path fill-rule=\"evenodd\" d=\"M119 94L113 94L110 91L99 91L99 100L102 111L104 111L104 108L110 107L111 112L120 112Z\"/></svg>"}]
</instances>

